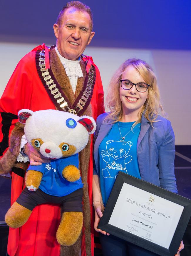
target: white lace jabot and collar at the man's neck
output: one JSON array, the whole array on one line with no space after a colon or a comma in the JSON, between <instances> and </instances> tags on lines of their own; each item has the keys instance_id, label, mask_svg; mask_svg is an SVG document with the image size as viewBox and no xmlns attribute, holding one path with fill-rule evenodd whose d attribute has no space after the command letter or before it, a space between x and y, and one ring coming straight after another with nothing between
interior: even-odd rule
<instances>
[{"instance_id":1,"label":"white lace jabot and collar at the man's neck","mask_svg":"<svg viewBox=\"0 0 191 256\"><path fill-rule=\"evenodd\" d=\"M64 66L64 69L66 71L66 75L68 76L73 92L76 92L76 85L78 81L78 77L83 77L82 69L80 66L80 57L77 61L71 61L68 60L60 55L58 52L57 47L55 47L56 53L58 54L58 57L61 61L61 63Z\"/></svg>"}]
</instances>

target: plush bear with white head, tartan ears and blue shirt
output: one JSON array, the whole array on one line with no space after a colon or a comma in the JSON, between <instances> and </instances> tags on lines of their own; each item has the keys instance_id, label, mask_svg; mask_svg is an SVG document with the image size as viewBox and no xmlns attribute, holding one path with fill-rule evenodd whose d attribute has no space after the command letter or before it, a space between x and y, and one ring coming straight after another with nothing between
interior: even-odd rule
<instances>
[{"instance_id":1,"label":"plush bear with white head, tartan ears and blue shirt","mask_svg":"<svg viewBox=\"0 0 191 256\"><path fill-rule=\"evenodd\" d=\"M20 110L18 118L25 124L28 143L50 162L29 166L26 187L6 213L5 221L18 228L26 223L37 204L59 203L63 213L56 238L59 244L70 246L77 241L83 225L78 152L87 145L89 134L94 133L95 120L58 110L28 109Z\"/></svg>"}]
</instances>

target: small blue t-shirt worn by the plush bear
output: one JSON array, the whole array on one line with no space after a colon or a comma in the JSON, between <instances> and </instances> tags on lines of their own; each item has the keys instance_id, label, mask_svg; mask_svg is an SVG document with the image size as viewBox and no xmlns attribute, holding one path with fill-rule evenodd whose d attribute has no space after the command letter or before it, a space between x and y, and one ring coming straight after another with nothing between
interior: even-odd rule
<instances>
[{"instance_id":1,"label":"small blue t-shirt worn by the plush bear","mask_svg":"<svg viewBox=\"0 0 191 256\"><path fill-rule=\"evenodd\" d=\"M28 170L42 172L42 180L39 188L49 195L65 196L75 190L83 187L81 177L79 180L70 182L62 176L63 169L68 165L74 165L78 168L78 154L51 160L50 163L42 163L42 165L30 165Z\"/></svg>"}]
</instances>

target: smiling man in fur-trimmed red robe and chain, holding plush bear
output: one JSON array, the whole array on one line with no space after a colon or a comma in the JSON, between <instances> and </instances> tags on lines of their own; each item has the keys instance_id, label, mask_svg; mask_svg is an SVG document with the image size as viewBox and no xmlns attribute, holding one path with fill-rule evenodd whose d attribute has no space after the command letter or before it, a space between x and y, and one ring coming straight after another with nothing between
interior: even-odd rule
<instances>
[{"instance_id":1,"label":"smiling man in fur-trimmed red robe and chain, holding plush bear","mask_svg":"<svg viewBox=\"0 0 191 256\"><path fill-rule=\"evenodd\" d=\"M11 170L11 205L24 189L24 175L29 163L18 160L18 155L26 154L33 165L47 161L37 151L31 150L29 144L21 149L24 131L17 123L18 111L58 109L79 116L90 115L94 119L104 112L99 70L91 57L83 55L95 33L92 26L88 6L78 1L67 3L53 26L56 45L39 45L26 54L16 66L1 97L0 174ZM80 246L82 256L93 255L93 225L90 225L93 223L92 138L79 159L84 183L82 238L71 247L60 247L56 241L60 207L43 204L34 208L21 228L9 229L7 251L10 256L78 255Z\"/></svg>"}]
</instances>

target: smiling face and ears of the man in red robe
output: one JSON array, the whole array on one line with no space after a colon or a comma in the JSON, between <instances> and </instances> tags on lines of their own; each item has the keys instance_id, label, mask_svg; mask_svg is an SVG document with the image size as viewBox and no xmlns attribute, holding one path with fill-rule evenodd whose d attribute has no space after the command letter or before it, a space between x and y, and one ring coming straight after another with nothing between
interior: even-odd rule
<instances>
[{"instance_id":1,"label":"smiling face and ears of the man in red robe","mask_svg":"<svg viewBox=\"0 0 191 256\"><path fill-rule=\"evenodd\" d=\"M73 7L64 12L62 24L53 26L61 56L72 61L78 59L95 34L91 32L90 24L87 12L79 12Z\"/></svg>"}]
</instances>

